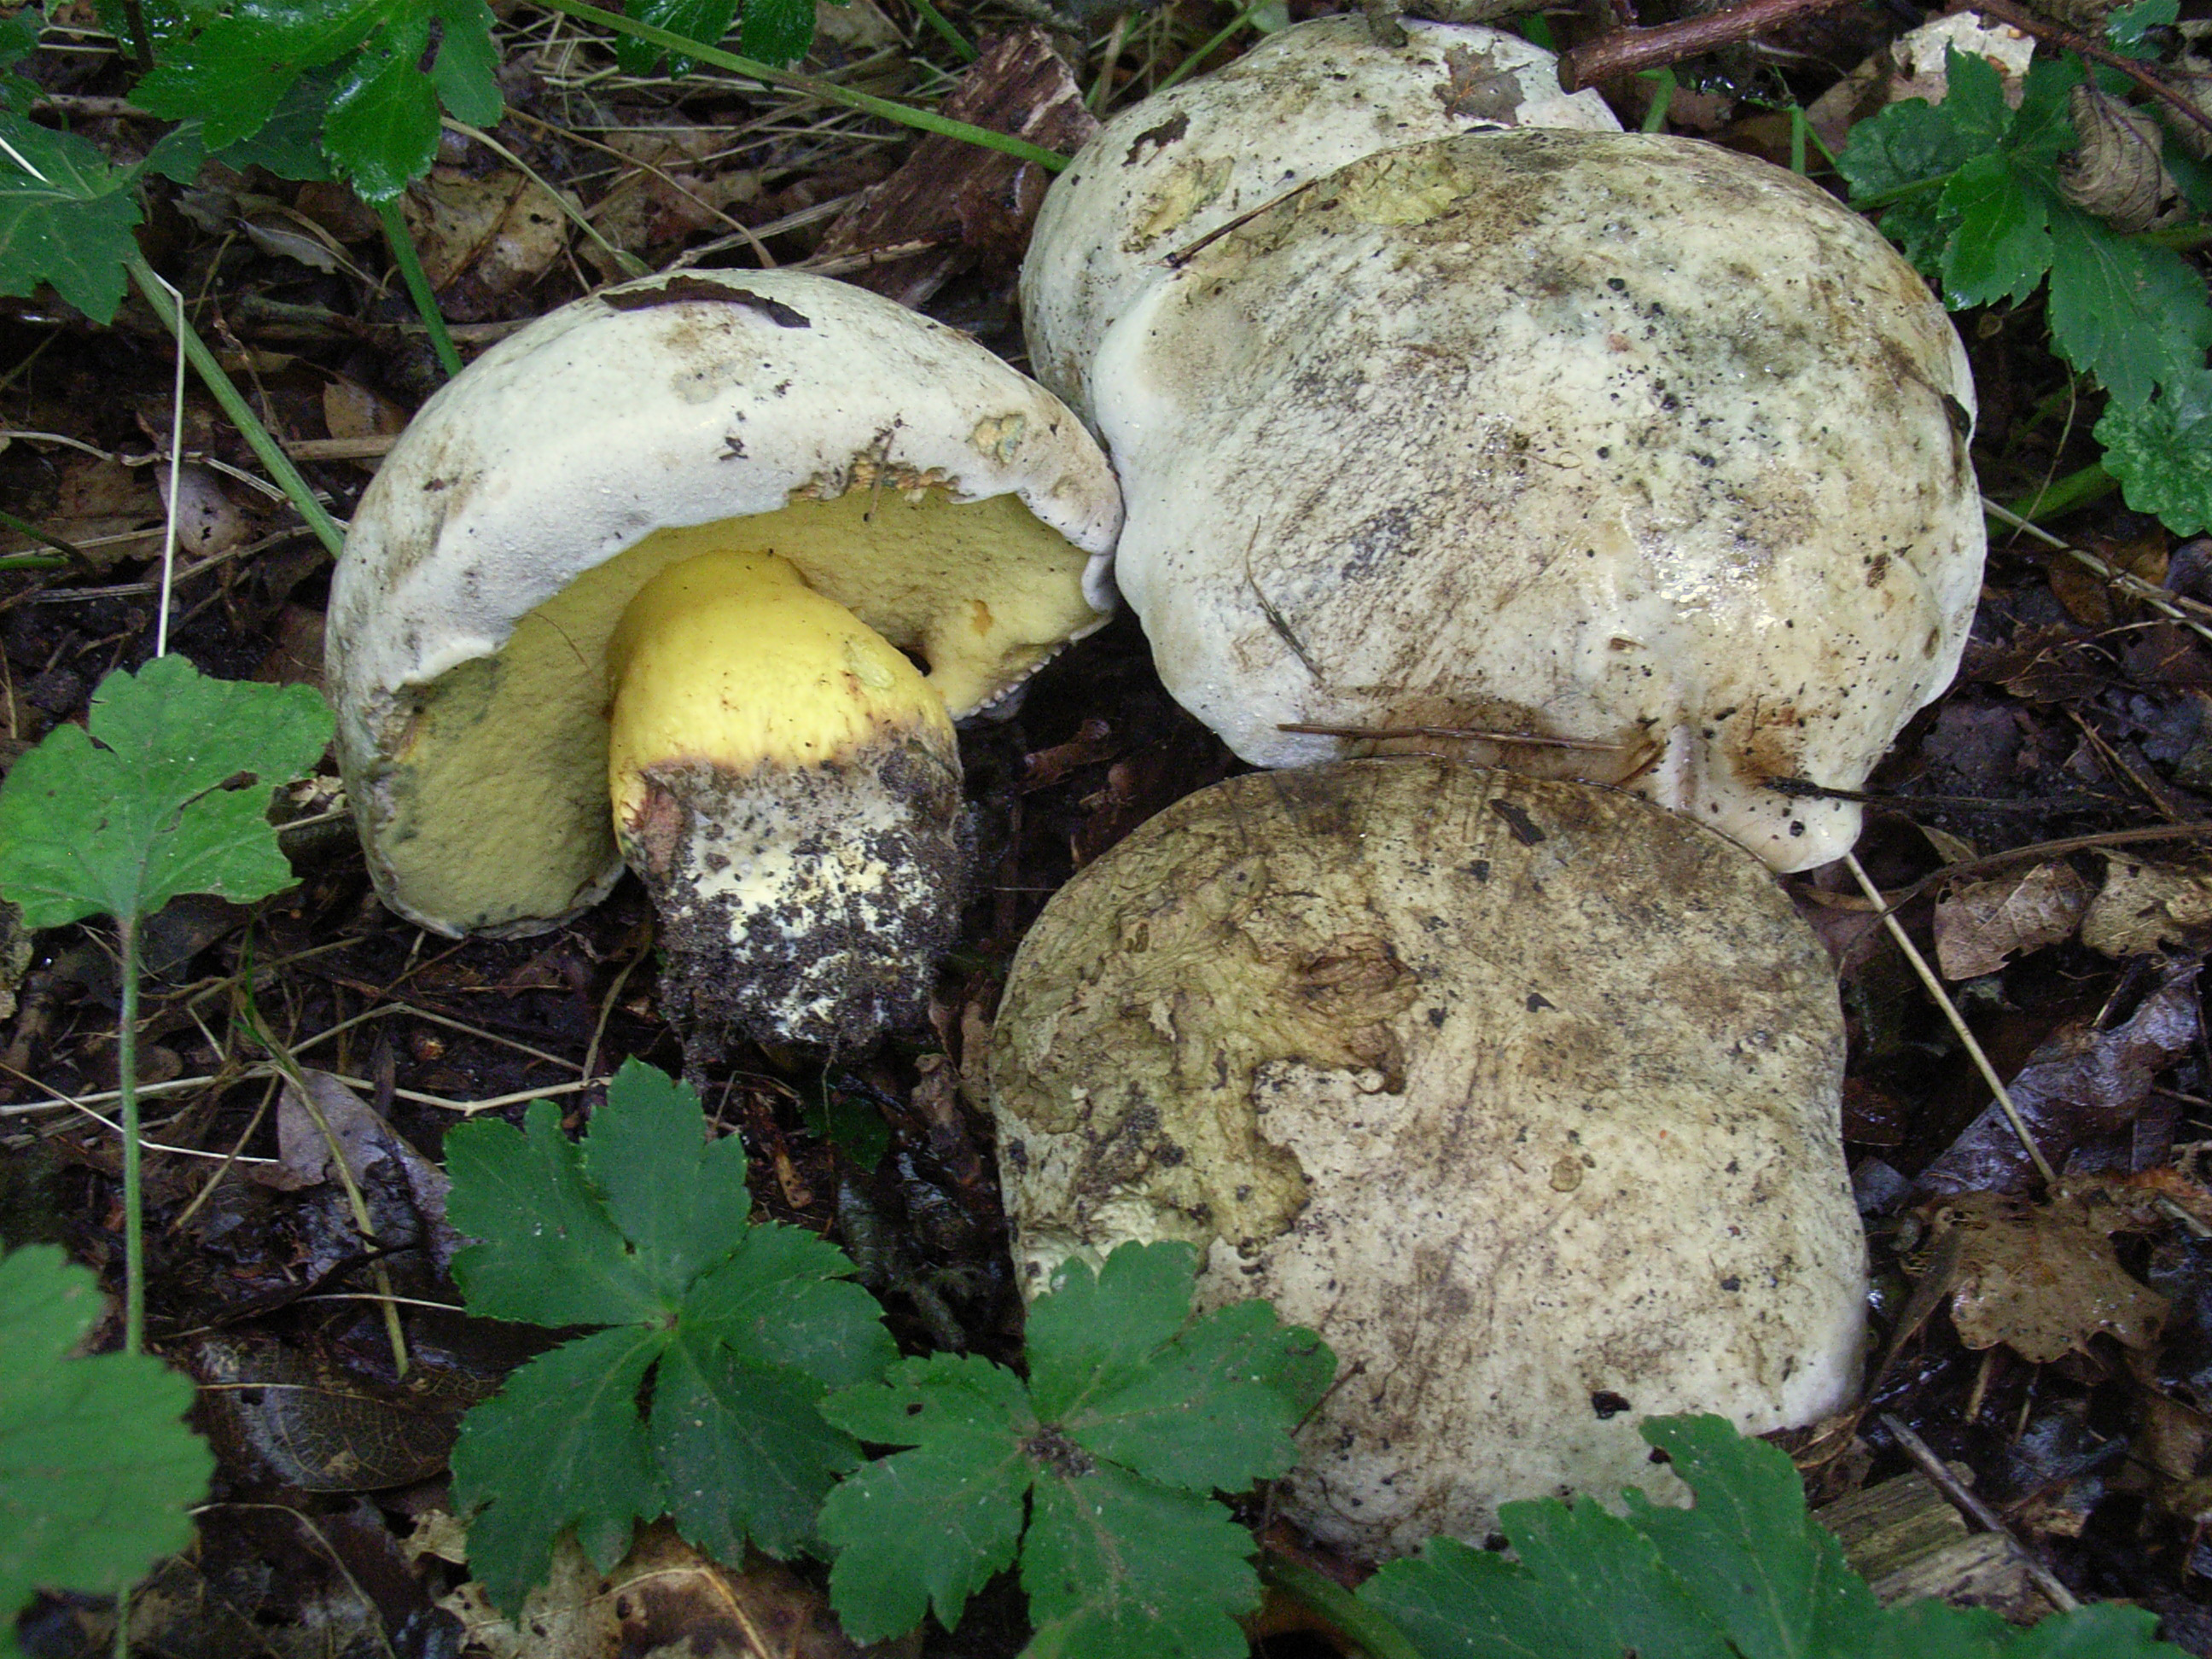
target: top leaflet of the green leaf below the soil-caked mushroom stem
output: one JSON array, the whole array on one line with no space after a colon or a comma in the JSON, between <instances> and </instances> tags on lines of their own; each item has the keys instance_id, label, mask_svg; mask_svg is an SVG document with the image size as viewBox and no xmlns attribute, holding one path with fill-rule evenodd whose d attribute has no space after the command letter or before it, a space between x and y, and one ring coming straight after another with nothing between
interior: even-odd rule
<instances>
[{"instance_id":1,"label":"top leaflet of the green leaf below the soil-caked mushroom stem","mask_svg":"<svg viewBox=\"0 0 2212 1659\"><path fill-rule=\"evenodd\" d=\"M708 1139L706 1108L688 1084L630 1060L615 1075L619 1110L584 1137L584 1172L630 1241L639 1272L679 1296L701 1272L748 1243L745 1144Z\"/></svg>"}]
</instances>

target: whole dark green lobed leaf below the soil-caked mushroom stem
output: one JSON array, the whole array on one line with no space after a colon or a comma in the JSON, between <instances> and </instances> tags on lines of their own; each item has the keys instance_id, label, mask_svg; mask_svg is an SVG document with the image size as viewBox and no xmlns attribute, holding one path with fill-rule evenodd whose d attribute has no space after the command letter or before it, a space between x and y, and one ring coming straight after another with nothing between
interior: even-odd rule
<instances>
[{"instance_id":1,"label":"whole dark green lobed leaf below the soil-caked mushroom stem","mask_svg":"<svg viewBox=\"0 0 2212 1659\"><path fill-rule=\"evenodd\" d=\"M462 1427L453 1478L489 1504L469 1559L493 1601L520 1604L566 1526L602 1571L661 1511L730 1562L805 1546L860 1460L823 1387L880 1376L896 1349L838 1250L750 1225L745 1155L708 1139L699 1097L630 1062L582 1144L533 1102L522 1133L447 1135L447 1214L476 1239L453 1256L471 1312L613 1327L533 1360ZM562 1438L564 1387L604 1453Z\"/></svg>"}]
</instances>

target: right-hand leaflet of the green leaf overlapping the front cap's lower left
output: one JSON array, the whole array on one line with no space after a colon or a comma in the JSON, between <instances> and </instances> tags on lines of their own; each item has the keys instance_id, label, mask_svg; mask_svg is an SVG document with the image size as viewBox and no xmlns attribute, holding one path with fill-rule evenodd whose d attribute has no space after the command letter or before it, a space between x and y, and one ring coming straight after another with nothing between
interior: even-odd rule
<instances>
[{"instance_id":1,"label":"right-hand leaflet of the green leaf overlapping the front cap's lower left","mask_svg":"<svg viewBox=\"0 0 2212 1659\"><path fill-rule=\"evenodd\" d=\"M1298 1376L1303 1398L1294 1398L1283 1376L1314 1352L1327 1347L1312 1332L1285 1329L1267 1303L1234 1303L1179 1332L1144 1371L1088 1398L1062 1427L1084 1451L1161 1486L1243 1491L1298 1460L1290 1433L1318 1391Z\"/></svg>"}]
</instances>

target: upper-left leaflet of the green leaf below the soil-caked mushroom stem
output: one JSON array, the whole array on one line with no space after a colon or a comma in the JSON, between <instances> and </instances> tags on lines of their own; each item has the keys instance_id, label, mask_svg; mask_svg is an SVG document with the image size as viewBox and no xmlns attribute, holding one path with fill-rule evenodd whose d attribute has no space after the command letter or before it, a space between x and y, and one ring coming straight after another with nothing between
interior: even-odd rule
<instances>
[{"instance_id":1,"label":"upper-left leaflet of the green leaf below the soil-caked mushroom stem","mask_svg":"<svg viewBox=\"0 0 2212 1659\"><path fill-rule=\"evenodd\" d=\"M560 1110L538 1099L522 1121L522 1133L480 1119L445 1137L447 1217L478 1241L453 1254L469 1312L555 1327L666 1318L675 1294L630 1256Z\"/></svg>"}]
</instances>

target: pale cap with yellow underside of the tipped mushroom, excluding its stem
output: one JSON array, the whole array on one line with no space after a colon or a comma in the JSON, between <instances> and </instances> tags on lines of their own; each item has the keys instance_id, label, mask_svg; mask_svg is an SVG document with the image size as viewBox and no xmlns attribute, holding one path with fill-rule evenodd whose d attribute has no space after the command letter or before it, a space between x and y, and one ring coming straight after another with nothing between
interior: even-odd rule
<instances>
[{"instance_id":1,"label":"pale cap with yellow underside of the tipped mushroom, excluding its stem","mask_svg":"<svg viewBox=\"0 0 2212 1659\"><path fill-rule=\"evenodd\" d=\"M422 405L332 580L376 889L442 933L606 894L604 648L675 560L781 553L967 714L1104 622L1119 522L1057 398L865 290L686 272L564 305Z\"/></svg>"}]
</instances>

